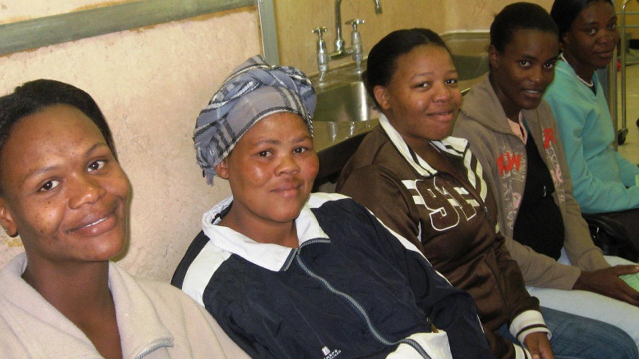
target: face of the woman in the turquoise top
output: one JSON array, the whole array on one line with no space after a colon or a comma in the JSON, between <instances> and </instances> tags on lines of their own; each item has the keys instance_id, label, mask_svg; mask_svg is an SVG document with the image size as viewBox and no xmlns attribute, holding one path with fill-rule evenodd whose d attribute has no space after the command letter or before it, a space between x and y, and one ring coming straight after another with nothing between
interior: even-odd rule
<instances>
[{"instance_id":1,"label":"face of the woman in the turquoise top","mask_svg":"<svg viewBox=\"0 0 639 359\"><path fill-rule=\"evenodd\" d=\"M562 36L566 58L585 80L590 79L594 70L610 63L617 41L615 9L604 1L590 3L581 10Z\"/></svg>"}]
</instances>

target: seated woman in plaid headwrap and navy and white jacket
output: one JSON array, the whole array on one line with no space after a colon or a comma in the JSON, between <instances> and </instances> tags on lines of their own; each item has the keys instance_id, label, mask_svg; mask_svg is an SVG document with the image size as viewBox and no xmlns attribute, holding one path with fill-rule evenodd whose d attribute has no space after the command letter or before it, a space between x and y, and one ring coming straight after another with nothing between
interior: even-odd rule
<instances>
[{"instance_id":1,"label":"seated woman in plaid headwrap and navy and white jacket","mask_svg":"<svg viewBox=\"0 0 639 359\"><path fill-rule=\"evenodd\" d=\"M309 197L314 107L303 73L259 56L213 95L197 161L233 197L204 213L172 283L254 358L492 358L468 293L366 208Z\"/></svg>"}]
</instances>

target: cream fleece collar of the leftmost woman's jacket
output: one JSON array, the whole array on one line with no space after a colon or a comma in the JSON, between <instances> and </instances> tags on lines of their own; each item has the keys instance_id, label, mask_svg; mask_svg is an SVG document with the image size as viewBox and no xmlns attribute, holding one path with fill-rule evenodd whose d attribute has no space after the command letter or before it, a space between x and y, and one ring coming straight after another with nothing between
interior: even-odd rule
<instances>
[{"instance_id":1,"label":"cream fleece collar of the leftmost woman's jacket","mask_svg":"<svg viewBox=\"0 0 639 359\"><path fill-rule=\"evenodd\" d=\"M22 279L26 267L27 256L23 252L0 272L4 286L0 307L13 334L36 357L102 358L80 328ZM173 335L162 324L148 295L115 263L109 264L109 289L115 302L124 358L173 346Z\"/></svg>"}]
</instances>

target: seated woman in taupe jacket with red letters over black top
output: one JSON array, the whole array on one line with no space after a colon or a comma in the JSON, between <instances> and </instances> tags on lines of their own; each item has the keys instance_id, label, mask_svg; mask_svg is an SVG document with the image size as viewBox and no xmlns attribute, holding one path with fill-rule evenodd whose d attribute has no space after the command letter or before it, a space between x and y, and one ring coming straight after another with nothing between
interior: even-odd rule
<instances>
[{"instance_id":1,"label":"seated woman in taupe jacket with red letters over black top","mask_svg":"<svg viewBox=\"0 0 639 359\"><path fill-rule=\"evenodd\" d=\"M619 326L639 343L639 293L617 277L639 268L611 267L629 262L604 259L592 243L541 99L557 62L557 27L540 6L517 3L495 17L490 36L490 72L464 97L453 135L468 139L488 174L508 250L541 305Z\"/></svg>"}]
</instances>

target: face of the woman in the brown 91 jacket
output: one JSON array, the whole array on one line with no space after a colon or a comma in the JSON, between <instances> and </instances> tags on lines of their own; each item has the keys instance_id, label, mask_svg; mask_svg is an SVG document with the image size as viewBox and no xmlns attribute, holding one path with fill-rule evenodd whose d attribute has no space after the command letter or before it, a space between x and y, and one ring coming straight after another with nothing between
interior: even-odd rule
<instances>
[{"instance_id":1,"label":"face of the woman in the brown 91 jacket","mask_svg":"<svg viewBox=\"0 0 639 359\"><path fill-rule=\"evenodd\" d=\"M459 113L461 92L449 52L438 45L419 45L397 57L387 86L376 86L381 111L410 146L450 134Z\"/></svg>"}]
</instances>

